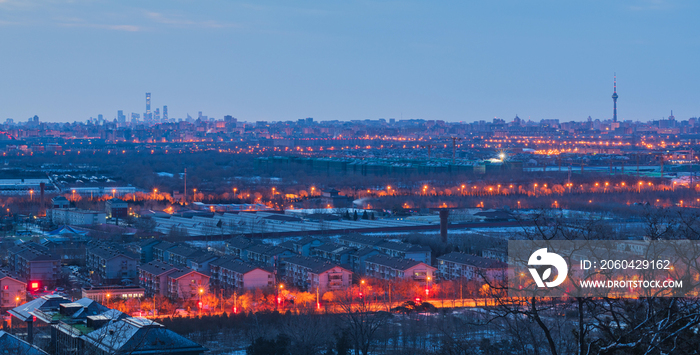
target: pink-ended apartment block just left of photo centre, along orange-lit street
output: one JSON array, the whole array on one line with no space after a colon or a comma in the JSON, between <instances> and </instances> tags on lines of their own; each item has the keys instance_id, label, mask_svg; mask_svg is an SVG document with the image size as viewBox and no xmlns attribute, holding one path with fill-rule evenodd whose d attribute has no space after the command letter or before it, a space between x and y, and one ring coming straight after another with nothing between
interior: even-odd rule
<instances>
[{"instance_id":1,"label":"pink-ended apartment block just left of photo centre, along orange-lit street","mask_svg":"<svg viewBox=\"0 0 700 355\"><path fill-rule=\"evenodd\" d=\"M352 284L352 271L320 258L287 257L284 268L287 282L309 291L341 290Z\"/></svg>"}]
</instances>

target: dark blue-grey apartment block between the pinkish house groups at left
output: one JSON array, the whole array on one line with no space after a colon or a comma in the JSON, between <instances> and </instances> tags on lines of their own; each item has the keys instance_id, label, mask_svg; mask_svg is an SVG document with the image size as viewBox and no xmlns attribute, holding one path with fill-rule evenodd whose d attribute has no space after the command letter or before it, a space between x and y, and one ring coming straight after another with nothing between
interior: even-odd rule
<instances>
[{"instance_id":1,"label":"dark blue-grey apartment block between the pinkish house groups at left","mask_svg":"<svg viewBox=\"0 0 700 355\"><path fill-rule=\"evenodd\" d=\"M136 280L138 260L138 255L121 246L97 244L87 248L85 265L101 283L118 284Z\"/></svg>"}]
</instances>

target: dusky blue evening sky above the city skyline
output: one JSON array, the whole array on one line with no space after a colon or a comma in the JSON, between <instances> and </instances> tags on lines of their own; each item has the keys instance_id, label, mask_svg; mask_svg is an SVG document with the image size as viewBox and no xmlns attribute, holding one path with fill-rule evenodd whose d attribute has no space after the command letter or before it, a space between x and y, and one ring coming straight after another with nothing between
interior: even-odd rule
<instances>
[{"instance_id":1,"label":"dusky blue evening sky above the city skyline","mask_svg":"<svg viewBox=\"0 0 700 355\"><path fill-rule=\"evenodd\" d=\"M0 120L700 116L696 0L0 0Z\"/></svg>"}]
</instances>

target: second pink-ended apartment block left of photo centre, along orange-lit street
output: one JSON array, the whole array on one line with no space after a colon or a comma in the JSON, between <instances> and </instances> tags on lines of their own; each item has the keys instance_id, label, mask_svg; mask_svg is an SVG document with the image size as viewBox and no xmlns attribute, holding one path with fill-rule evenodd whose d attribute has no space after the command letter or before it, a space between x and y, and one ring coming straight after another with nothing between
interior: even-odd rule
<instances>
[{"instance_id":1,"label":"second pink-ended apartment block left of photo centre, along orange-lit street","mask_svg":"<svg viewBox=\"0 0 700 355\"><path fill-rule=\"evenodd\" d=\"M209 263L209 269L212 285L227 293L275 284L272 270L241 259L222 258Z\"/></svg>"}]
</instances>

